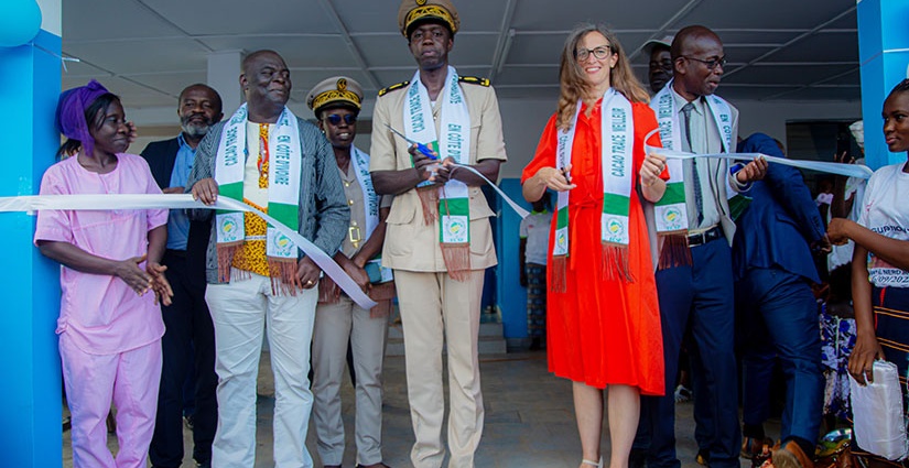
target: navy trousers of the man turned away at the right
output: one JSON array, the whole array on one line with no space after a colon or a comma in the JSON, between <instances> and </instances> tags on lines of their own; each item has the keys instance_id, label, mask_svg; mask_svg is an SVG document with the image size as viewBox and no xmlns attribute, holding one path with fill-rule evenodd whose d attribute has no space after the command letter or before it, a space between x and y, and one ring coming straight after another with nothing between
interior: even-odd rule
<instances>
[{"instance_id":1,"label":"navy trousers of the man turned away at the right","mask_svg":"<svg viewBox=\"0 0 909 468\"><path fill-rule=\"evenodd\" d=\"M770 377L779 358L786 377L780 438L814 443L824 378L818 303L808 280L779 269L751 269L735 287L745 424L762 424L769 417Z\"/></svg>"}]
</instances>

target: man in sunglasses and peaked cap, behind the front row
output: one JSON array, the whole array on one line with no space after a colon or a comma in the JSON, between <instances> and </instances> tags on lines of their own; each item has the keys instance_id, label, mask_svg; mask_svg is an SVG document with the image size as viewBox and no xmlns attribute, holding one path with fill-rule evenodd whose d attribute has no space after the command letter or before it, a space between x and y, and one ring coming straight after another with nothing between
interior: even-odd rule
<instances>
[{"instance_id":1,"label":"man in sunglasses and peaked cap, behind the front row","mask_svg":"<svg viewBox=\"0 0 909 468\"><path fill-rule=\"evenodd\" d=\"M369 175L369 155L354 145L362 105L359 83L345 76L327 78L310 91L306 105L332 144L350 208L347 237L335 261L379 303L365 309L331 277L318 283L313 331L313 418L318 455L325 468L342 466L345 437L340 382L350 342L357 376L357 467L382 468L382 359L394 283L391 271L382 272L379 254L390 206L383 202L391 197L376 194Z\"/></svg>"}]
</instances>

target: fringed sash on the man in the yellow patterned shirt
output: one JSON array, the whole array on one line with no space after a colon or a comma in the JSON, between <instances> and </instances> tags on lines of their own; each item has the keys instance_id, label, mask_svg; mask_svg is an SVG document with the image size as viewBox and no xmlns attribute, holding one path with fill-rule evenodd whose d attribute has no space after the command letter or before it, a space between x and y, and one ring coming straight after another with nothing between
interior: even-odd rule
<instances>
[{"instance_id":1,"label":"fringed sash on the man in the yellow patterned shirt","mask_svg":"<svg viewBox=\"0 0 909 468\"><path fill-rule=\"evenodd\" d=\"M219 196L244 200L244 174L246 166L247 105L244 104L224 126L215 156L215 181ZM291 229L299 229L300 173L303 154L296 117L286 107L269 139L268 214ZM218 275L230 281L230 264L237 249L245 240L242 211L218 210L217 226ZM297 247L271 225L266 235L266 254L272 279L272 287L294 294Z\"/></svg>"}]
</instances>

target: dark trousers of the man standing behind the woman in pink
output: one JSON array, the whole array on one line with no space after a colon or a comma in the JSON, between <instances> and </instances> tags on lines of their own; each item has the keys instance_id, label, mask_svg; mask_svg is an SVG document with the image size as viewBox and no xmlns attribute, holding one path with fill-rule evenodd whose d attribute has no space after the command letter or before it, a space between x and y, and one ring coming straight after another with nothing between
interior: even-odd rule
<instances>
[{"instance_id":1,"label":"dark trousers of the man standing behind the woman in pink","mask_svg":"<svg viewBox=\"0 0 909 468\"><path fill-rule=\"evenodd\" d=\"M218 376L215 327L205 304L205 273L191 268L182 251L167 250L162 263L167 266L164 274L174 296L173 304L161 307L166 328L161 339L164 362L149 459L154 467L171 468L183 464L183 385L191 367L196 374L193 458L198 462L212 460L218 422Z\"/></svg>"}]
</instances>

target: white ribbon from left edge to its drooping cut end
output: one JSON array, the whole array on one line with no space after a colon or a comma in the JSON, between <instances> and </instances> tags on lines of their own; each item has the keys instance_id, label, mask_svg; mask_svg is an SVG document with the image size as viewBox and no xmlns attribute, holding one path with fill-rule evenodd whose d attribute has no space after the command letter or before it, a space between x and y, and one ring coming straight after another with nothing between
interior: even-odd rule
<instances>
[{"instance_id":1,"label":"white ribbon from left edge to its drooping cut end","mask_svg":"<svg viewBox=\"0 0 909 468\"><path fill-rule=\"evenodd\" d=\"M306 257L313 259L322 271L337 283L350 298L365 309L377 304L369 298L360 286L322 249L310 242L295 230L282 225L277 219L259 211L251 206L230 199L218 197L214 205L204 205L194 200L191 194L182 195L149 195L149 194L116 194L116 195L29 195L20 197L0 197L0 213L26 211L30 215L42 209L229 209L235 211L250 211L259 215L270 226L293 240Z\"/></svg>"}]
</instances>

